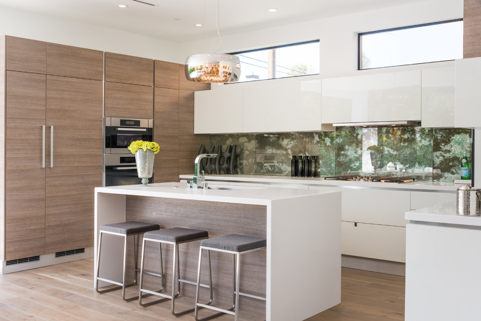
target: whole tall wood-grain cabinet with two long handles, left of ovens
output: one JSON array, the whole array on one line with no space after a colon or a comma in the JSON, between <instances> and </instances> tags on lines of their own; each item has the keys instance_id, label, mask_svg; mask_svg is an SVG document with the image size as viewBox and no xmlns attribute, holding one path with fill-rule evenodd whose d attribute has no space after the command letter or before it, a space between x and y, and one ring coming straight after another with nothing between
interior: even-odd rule
<instances>
[{"instance_id":1,"label":"whole tall wood-grain cabinet with two long handles, left of ovens","mask_svg":"<svg viewBox=\"0 0 481 321\"><path fill-rule=\"evenodd\" d=\"M93 191L102 186L103 53L10 36L2 40L0 259L91 247Z\"/></svg>"}]
</instances>

